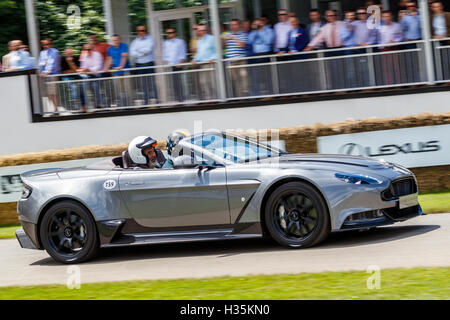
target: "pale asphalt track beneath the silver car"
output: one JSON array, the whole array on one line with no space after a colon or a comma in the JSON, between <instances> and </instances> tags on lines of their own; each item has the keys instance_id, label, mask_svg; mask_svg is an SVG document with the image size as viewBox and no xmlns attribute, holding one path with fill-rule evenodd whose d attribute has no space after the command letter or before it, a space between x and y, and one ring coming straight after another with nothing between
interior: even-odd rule
<instances>
[{"instance_id":1,"label":"pale asphalt track beneath the silver car","mask_svg":"<svg viewBox=\"0 0 450 320\"><path fill-rule=\"evenodd\" d=\"M333 233L321 245L284 249L264 239L101 250L78 265L81 283L450 266L450 214L430 214L369 231ZM0 240L0 286L66 284L72 269L45 251Z\"/></svg>"}]
</instances>

